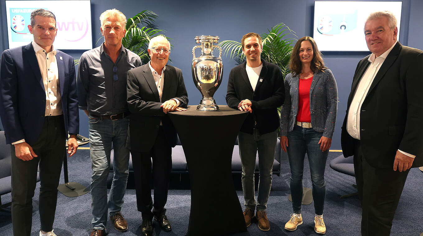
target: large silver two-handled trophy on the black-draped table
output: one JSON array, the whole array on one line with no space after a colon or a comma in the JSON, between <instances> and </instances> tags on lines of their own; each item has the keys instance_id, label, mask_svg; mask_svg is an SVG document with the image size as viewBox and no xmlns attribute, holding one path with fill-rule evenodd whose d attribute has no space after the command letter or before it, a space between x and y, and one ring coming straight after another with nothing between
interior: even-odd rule
<instances>
[{"instance_id":1,"label":"large silver two-handled trophy on the black-draped table","mask_svg":"<svg viewBox=\"0 0 423 236\"><path fill-rule=\"evenodd\" d=\"M219 42L218 36L201 35L194 38L196 43L201 45L192 48L192 79L195 86L200 90L203 98L197 106L200 111L217 111L216 101L213 98L214 92L219 88L222 82L222 49L220 46L213 45ZM201 48L201 56L195 57L195 49ZM213 56L213 49L219 49L219 57Z\"/></svg>"}]
</instances>

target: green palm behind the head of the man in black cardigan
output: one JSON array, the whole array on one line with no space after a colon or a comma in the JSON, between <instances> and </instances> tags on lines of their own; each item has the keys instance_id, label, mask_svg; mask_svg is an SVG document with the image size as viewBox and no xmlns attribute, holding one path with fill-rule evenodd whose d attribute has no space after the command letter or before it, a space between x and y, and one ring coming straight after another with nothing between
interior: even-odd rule
<instances>
[{"instance_id":1,"label":"green palm behind the head of the man in black cardigan","mask_svg":"<svg viewBox=\"0 0 423 236\"><path fill-rule=\"evenodd\" d=\"M268 29L268 33L262 33L260 36L263 41L261 57L267 62L278 65L285 76L289 73L289 57L293 45L297 42L297 35L286 24L279 23ZM220 42L219 46L222 47L223 55L229 54L230 59L234 59L238 64L244 62L245 55L242 53L241 43L225 40Z\"/></svg>"}]
</instances>

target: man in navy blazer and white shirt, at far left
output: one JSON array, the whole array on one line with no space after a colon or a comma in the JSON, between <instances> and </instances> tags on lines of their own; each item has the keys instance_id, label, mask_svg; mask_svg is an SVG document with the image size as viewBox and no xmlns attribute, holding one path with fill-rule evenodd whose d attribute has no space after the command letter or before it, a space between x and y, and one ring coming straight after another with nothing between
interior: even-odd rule
<instances>
[{"instance_id":1,"label":"man in navy blazer and white shirt, at far left","mask_svg":"<svg viewBox=\"0 0 423 236\"><path fill-rule=\"evenodd\" d=\"M12 223L15 236L29 236L32 197L40 169L40 236L55 236L57 187L65 155L78 147L78 103L72 57L55 49L56 18L50 11L31 13L27 46L5 50L0 59L0 116L6 142L12 144Z\"/></svg>"}]
</instances>

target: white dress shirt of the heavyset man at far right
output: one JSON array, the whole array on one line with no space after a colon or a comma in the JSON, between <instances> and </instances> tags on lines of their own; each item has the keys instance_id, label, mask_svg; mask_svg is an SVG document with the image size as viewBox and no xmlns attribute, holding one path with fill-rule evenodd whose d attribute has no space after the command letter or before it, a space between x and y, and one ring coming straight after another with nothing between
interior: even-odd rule
<instances>
[{"instance_id":1,"label":"white dress shirt of the heavyset man at far right","mask_svg":"<svg viewBox=\"0 0 423 236\"><path fill-rule=\"evenodd\" d=\"M351 105L348 111L346 130L349 133L349 135L352 136L353 138L360 140L361 105L363 105L363 101L366 98L366 95L368 93L368 90L371 84L373 83L374 77L376 77L377 72L379 71L383 62L385 62L386 57L391 52L395 44L396 42L390 47L390 49L388 49L379 57L376 57L376 55L372 53L370 57L368 58L370 65L364 72L363 77L361 77L360 82L357 85L357 88L354 93L354 97L352 98ZM409 157L415 157L415 155L411 155L399 149L398 151Z\"/></svg>"}]
</instances>

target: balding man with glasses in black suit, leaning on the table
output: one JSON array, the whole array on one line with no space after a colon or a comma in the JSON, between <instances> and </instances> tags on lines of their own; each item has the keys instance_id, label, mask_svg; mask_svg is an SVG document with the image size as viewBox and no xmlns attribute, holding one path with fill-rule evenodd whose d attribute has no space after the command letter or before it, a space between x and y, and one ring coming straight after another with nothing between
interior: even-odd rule
<instances>
[{"instance_id":1,"label":"balding man with glasses in black suit, leaning on the table","mask_svg":"<svg viewBox=\"0 0 423 236\"><path fill-rule=\"evenodd\" d=\"M163 230L171 230L165 215L165 204L168 200L169 176L172 170L172 147L176 146L177 134L166 114L170 111L184 111L188 104L181 70L166 65L170 54L169 41L162 35L151 38L148 54L151 58L148 64L128 71L126 90L131 112L130 149L137 209L143 217L143 236L152 235L153 216ZM150 190L151 158L154 204Z\"/></svg>"}]
</instances>

